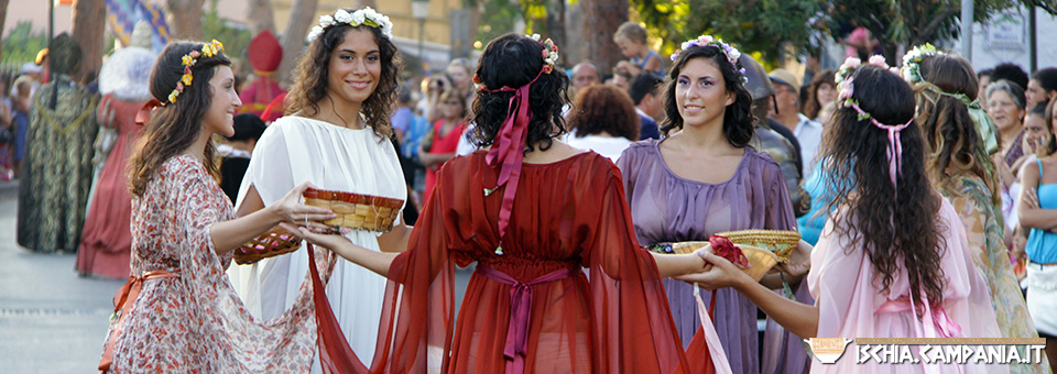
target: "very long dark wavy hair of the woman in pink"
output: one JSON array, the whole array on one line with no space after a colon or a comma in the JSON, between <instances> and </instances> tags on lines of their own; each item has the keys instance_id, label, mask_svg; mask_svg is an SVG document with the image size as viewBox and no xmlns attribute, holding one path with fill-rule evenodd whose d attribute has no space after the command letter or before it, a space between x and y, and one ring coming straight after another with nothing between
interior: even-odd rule
<instances>
[{"instance_id":1,"label":"very long dark wavy hair of the woman in pink","mask_svg":"<svg viewBox=\"0 0 1057 374\"><path fill-rule=\"evenodd\" d=\"M914 91L895 74L863 65L851 77L856 81L852 98L873 119L902 124L914 118ZM838 109L831 127L824 140L822 156L822 165L830 170L826 183L835 188L827 211L847 208L847 215L838 221L847 223L835 228L836 234L852 242L846 253L850 255L854 249L865 252L878 273L878 279L872 280L880 280L882 293L905 268L915 301L927 295L931 305L941 302L946 286L938 266L946 248L941 235L946 228L938 220L942 198L925 170L920 128L912 122L901 132L903 164L896 190L889 179L887 131L870 120L860 120L852 108Z\"/></svg>"}]
</instances>

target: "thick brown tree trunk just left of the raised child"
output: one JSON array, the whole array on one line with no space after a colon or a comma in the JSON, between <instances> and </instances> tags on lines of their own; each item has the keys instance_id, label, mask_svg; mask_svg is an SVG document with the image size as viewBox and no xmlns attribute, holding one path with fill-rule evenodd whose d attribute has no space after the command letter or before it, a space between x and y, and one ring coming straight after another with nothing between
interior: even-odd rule
<instances>
[{"instance_id":1,"label":"thick brown tree trunk just left of the raised child","mask_svg":"<svg viewBox=\"0 0 1057 374\"><path fill-rule=\"evenodd\" d=\"M587 57L598 65L599 73L611 72L620 61L613 34L628 21L628 0L580 0L584 7L584 44Z\"/></svg>"}]
</instances>

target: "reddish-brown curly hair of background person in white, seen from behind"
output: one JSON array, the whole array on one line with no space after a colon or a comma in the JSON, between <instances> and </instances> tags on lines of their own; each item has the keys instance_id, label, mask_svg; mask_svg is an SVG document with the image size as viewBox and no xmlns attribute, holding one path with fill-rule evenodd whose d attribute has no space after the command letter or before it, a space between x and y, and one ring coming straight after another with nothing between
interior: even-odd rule
<instances>
[{"instance_id":1,"label":"reddish-brown curly hair of background person in white, seen from behind","mask_svg":"<svg viewBox=\"0 0 1057 374\"><path fill-rule=\"evenodd\" d=\"M569 114L569 131L577 138L606 132L635 142L642 122L624 90L613 85L593 85L576 94Z\"/></svg>"}]
</instances>

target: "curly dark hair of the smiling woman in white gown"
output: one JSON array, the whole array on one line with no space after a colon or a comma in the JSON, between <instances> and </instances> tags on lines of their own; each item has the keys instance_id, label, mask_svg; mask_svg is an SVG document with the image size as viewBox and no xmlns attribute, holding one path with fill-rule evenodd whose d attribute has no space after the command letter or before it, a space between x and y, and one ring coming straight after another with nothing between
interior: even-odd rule
<instances>
[{"instance_id":1,"label":"curly dark hair of the smiling woman in white gown","mask_svg":"<svg viewBox=\"0 0 1057 374\"><path fill-rule=\"evenodd\" d=\"M356 9L346 9L349 13ZM335 11L337 12L337 11ZM331 16L334 13L330 14ZM383 139L389 139L393 134L393 128L389 123L389 117L396 110L396 94L400 90L400 69L403 61L396 51L393 41L382 34L381 29L368 25L351 26L347 23L336 23L326 28L319 37L316 37L308 44L308 50L297 62L295 68L294 86L290 88L284 105L286 106L286 116L294 114L302 110L307 111L307 116L315 116L319 112L319 101L328 99L327 81L330 76L330 59L334 57L334 50L345 42L345 35L350 30L367 30L374 35L374 43L378 43L378 50L382 63L382 74L378 77L378 86L374 92L363 101L360 111L367 117L367 123L374 130L374 133Z\"/></svg>"}]
</instances>

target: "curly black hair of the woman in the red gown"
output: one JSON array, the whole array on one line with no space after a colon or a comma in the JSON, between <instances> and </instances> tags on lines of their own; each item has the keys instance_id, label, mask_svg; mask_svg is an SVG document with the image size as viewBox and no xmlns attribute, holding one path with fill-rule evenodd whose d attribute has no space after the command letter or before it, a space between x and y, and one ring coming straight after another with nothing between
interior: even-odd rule
<instances>
[{"instance_id":1,"label":"curly black hair of the woman in the red gown","mask_svg":"<svg viewBox=\"0 0 1057 374\"><path fill-rule=\"evenodd\" d=\"M477 63L477 77L489 89L519 88L543 69L543 44L514 33L499 36L488 43ZM541 74L528 89L528 122L525 152L548 150L554 139L565 134L562 107L569 102L569 77L555 67L551 74ZM514 92L480 91L473 99L471 122L477 123L471 134L473 144L490 146L495 141Z\"/></svg>"}]
</instances>

